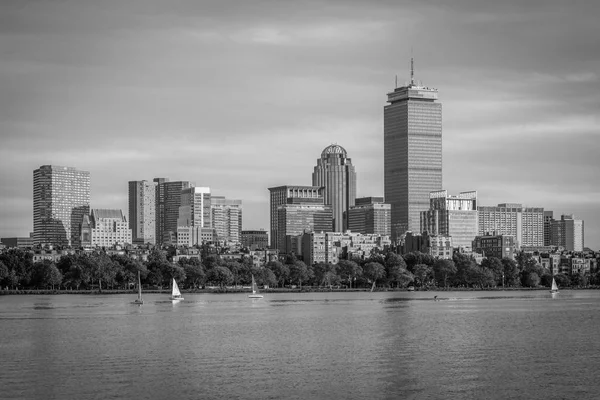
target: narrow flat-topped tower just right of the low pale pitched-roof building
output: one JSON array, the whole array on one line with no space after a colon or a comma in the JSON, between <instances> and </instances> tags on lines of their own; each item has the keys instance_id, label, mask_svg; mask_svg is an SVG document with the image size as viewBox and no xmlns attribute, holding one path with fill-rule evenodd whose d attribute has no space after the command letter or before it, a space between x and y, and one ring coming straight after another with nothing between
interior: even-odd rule
<instances>
[{"instance_id":1,"label":"narrow flat-topped tower just right of the low pale pitched-roof building","mask_svg":"<svg viewBox=\"0 0 600 400\"><path fill-rule=\"evenodd\" d=\"M156 244L156 182L129 181L129 228L133 243Z\"/></svg>"}]
</instances>

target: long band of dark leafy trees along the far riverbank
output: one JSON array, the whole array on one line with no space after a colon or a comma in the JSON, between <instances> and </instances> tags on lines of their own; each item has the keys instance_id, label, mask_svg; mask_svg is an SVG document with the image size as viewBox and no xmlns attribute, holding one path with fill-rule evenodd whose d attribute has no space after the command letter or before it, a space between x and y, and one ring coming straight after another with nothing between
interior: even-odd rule
<instances>
[{"instance_id":1,"label":"long band of dark leafy trees along the far riverbank","mask_svg":"<svg viewBox=\"0 0 600 400\"><path fill-rule=\"evenodd\" d=\"M171 252L173 253L173 252ZM57 262L33 262L33 254L9 249L0 254L0 287L11 289L130 289L138 272L146 287L169 287L176 279L184 289L205 286L249 285L254 276L259 285L283 287L344 288L494 288L550 286L552 274L528 253L515 260L488 257L480 264L471 256L455 253L439 259L419 252L403 256L374 251L364 260L340 260L337 264L306 265L294 255L264 266L251 258L227 260L217 254L169 261L169 252L154 249L147 261L103 251L64 255ZM569 276L554 275L559 287L600 284L598 272Z\"/></svg>"}]
</instances>

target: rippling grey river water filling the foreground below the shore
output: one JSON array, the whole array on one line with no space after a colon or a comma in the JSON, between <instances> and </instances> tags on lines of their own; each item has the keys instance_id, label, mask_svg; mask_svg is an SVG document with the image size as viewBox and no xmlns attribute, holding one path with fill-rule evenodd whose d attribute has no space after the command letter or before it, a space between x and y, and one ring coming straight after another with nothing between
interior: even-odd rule
<instances>
[{"instance_id":1,"label":"rippling grey river water filling the foreground below the shore","mask_svg":"<svg viewBox=\"0 0 600 400\"><path fill-rule=\"evenodd\" d=\"M600 292L133 299L0 297L2 398L600 397Z\"/></svg>"}]
</instances>

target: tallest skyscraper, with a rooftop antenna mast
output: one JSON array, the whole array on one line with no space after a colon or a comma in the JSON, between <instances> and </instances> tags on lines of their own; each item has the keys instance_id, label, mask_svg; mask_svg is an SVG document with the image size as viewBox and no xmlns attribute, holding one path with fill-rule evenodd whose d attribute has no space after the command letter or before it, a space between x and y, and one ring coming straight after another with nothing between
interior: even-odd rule
<instances>
[{"instance_id":1,"label":"tallest skyscraper, with a rooftop antenna mast","mask_svg":"<svg viewBox=\"0 0 600 400\"><path fill-rule=\"evenodd\" d=\"M384 197L392 206L392 238L416 232L429 193L442 189L442 105L437 89L411 80L388 93L384 107Z\"/></svg>"}]
</instances>

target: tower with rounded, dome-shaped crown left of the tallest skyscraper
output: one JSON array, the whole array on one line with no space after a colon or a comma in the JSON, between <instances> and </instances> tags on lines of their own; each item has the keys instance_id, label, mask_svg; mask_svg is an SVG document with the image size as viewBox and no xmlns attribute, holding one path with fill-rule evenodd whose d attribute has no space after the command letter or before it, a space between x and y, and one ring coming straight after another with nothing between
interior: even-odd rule
<instances>
[{"instance_id":1,"label":"tower with rounded, dome-shaped crown left of the tallest skyscraper","mask_svg":"<svg viewBox=\"0 0 600 400\"><path fill-rule=\"evenodd\" d=\"M334 232L347 229L344 213L354 205L356 172L346 150L337 144L327 146L313 171L313 186L325 188L325 204L331 205Z\"/></svg>"}]
</instances>

